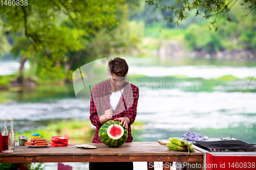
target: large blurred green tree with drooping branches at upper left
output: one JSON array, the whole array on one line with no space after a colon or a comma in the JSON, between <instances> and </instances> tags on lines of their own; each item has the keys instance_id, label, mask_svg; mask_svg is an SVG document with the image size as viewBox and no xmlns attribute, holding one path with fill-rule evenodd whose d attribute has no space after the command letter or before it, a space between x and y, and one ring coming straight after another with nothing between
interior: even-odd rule
<instances>
[{"instance_id":1,"label":"large blurred green tree with drooping branches at upper left","mask_svg":"<svg viewBox=\"0 0 256 170\"><path fill-rule=\"evenodd\" d=\"M82 43L86 38L94 36L102 28L111 29L118 24L115 7L121 4L118 0L4 2L0 9L3 22L0 26L16 39L13 46L16 55L20 50L18 46L24 45L20 52L20 80L27 59L40 64L41 75L62 72L60 65L69 60L68 52L79 52L84 49Z\"/></svg>"}]
</instances>

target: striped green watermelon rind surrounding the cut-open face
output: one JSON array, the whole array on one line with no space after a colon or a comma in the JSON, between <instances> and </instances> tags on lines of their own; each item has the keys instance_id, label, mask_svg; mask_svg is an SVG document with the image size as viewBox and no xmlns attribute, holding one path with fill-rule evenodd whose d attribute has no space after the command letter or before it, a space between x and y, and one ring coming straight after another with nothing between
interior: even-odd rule
<instances>
[{"instance_id":1,"label":"striped green watermelon rind surrounding the cut-open face","mask_svg":"<svg viewBox=\"0 0 256 170\"><path fill-rule=\"evenodd\" d=\"M123 136L120 137L119 139L112 139L109 137L108 133L107 133L107 130L108 130L108 127L110 127L110 125L113 125L113 122L115 123L115 125L121 125L121 123L119 121L116 121L116 120L110 120L109 122L106 122L104 123L100 129L99 129L99 138L100 138L100 141L102 143L104 143L105 145L109 146L109 147L112 147L112 148L116 148L116 147L120 147L123 143L125 143L125 141L127 140L127 137L128 137L128 132L125 128L123 128L124 130L124 133L123 133Z\"/></svg>"}]
</instances>

